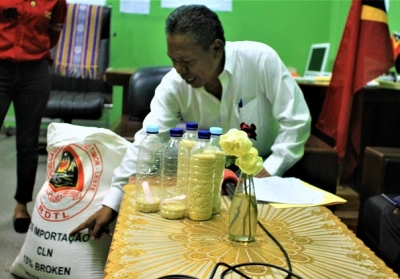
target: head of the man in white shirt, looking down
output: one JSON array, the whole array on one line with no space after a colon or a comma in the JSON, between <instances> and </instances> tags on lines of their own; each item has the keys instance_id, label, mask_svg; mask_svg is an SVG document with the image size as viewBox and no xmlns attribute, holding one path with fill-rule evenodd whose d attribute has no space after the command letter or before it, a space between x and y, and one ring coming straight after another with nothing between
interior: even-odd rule
<instances>
[{"instance_id":1,"label":"head of the man in white shirt, looking down","mask_svg":"<svg viewBox=\"0 0 400 279\"><path fill-rule=\"evenodd\" d=\"M181 6L166 20L168 56L181 77L199 88L218 80L225 37L218 16L202 5Z\"/></svg>"}]
</instances>

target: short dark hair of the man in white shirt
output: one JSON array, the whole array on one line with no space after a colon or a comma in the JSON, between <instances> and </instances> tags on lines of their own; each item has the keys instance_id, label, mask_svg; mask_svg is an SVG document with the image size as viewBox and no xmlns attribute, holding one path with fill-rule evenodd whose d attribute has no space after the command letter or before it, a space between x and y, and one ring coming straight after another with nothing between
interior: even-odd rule
<instances>
[{"instance_id":1,"label":"short dark hair of the man in white shirt","mask_svg":"<svg viewBox=\"0 0 400 279\"><path fill-rule=\"evenodd\" d=\"M190 34L194 43L204 50L216 39L225 44L221 21L203 5L183 5L175 9L166 20L165 32L171 36Z\"/></svg>"}]
</instances>

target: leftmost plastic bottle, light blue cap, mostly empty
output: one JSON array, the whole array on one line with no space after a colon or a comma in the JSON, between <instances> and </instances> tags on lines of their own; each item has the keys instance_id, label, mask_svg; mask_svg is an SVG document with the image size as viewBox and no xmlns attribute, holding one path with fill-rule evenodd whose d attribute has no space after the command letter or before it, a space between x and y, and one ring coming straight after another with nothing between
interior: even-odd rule
<instances>
[{"instance_id":1,"label":"leftmost plastic bottle, light blue cap, mostly empty","mask_svg":"<svg viewBox=\"0 0 400 279\"><path fill-rule=\"evenodd\" d=\"M161 155L163 142L157 125L146 127L147 135L140 142L136 164L136 209L157 212L160 206Z\"/></svg>"}]
</instances>

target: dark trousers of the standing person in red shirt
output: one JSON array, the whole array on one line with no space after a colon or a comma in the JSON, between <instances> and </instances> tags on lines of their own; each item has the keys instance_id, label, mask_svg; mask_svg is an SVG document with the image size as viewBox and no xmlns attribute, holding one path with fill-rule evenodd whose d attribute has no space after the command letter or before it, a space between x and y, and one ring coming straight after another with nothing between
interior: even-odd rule
<instances>
[{"instance_id":1,"label":"dark trousers of the standing person in red shirt","mask_svg":"<svg viewBox=\"0 0 400 279\"><path fill-rule=\"evenodd\" d=\"M13 103L16 121L17 202L32 201L39 157L41 119L50 95L47 60L0 60L0 127ZM0 184L8 183L2 181Z\"/></svg>"}]
</instances>

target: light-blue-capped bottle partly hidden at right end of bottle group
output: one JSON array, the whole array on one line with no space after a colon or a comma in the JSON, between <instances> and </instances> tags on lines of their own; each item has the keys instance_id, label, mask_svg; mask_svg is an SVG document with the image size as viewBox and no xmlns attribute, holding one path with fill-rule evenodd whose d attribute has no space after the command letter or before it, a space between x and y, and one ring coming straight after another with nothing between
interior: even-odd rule
<instances>
[{"instance_id":1,"label":"light-blue-capped bottle partly hidden at right end of bottle group","mask_svg":"<svg viewBox=\"0 0 400 279\"><path fill-rule=\"evenodd\" d=\"M215 185L213 214L218 214L221 212L221 186L224 180L226 154L224 151L222 151L221 145L219 144L220 136L222 135L222 128L211 127L210 133L210 144L215 148Z\"/></svg>"}]
</instances>

